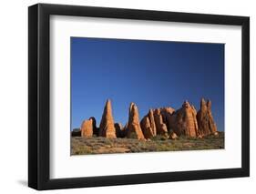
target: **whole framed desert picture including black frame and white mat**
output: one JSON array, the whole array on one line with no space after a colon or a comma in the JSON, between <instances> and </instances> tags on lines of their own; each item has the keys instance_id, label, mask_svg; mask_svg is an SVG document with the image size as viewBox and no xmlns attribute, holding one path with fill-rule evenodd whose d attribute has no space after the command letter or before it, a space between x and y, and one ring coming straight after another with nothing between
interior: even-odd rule
<instances>
[{"instance_id":1,"label":"whole framed desert picture including black frame and white mat","mask_svg":"<svg viewBox=\"0 0 256 194\"><path fill-rule=\"evenodd\" d=\"M250 19L28 8L28 185L250 175Z\"/></svg>"}]
</instances>

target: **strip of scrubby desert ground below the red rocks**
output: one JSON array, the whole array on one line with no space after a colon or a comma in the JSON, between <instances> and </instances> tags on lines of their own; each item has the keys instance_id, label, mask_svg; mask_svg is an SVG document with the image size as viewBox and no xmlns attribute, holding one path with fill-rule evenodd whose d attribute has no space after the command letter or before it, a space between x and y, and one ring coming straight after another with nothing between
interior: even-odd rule
<instances>
[{"instance_id":1,"label":"strip of scrubby desert ground below the red rocks","mask_svg":"<svg viewBox=\"0 0 256 194\"><path fill-rule=\"evenodd\" d=\"M138 153L224 148L224 133L205 138L167 139L156 136L150 140L134 138L71 137L71 155Z\"/></svg>"}]
</instances>

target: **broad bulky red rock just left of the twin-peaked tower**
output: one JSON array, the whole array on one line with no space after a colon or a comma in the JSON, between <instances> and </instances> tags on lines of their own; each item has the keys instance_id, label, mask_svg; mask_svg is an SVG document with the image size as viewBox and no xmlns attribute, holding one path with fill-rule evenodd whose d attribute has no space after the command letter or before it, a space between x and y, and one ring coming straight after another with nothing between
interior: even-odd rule
<instances>
[{"instance_id":1,"label":"broad bulky red rock just left of the twin-peaked tower","mask_svg":"<svg viewBox=\"0 0 256 194\"><path fill-rule=\"evenodd\" d=\"M195 107L185 101L182 107L169 117L169 129L178 136L197 137L199 127Z\"/></svg>"}]
</instances>

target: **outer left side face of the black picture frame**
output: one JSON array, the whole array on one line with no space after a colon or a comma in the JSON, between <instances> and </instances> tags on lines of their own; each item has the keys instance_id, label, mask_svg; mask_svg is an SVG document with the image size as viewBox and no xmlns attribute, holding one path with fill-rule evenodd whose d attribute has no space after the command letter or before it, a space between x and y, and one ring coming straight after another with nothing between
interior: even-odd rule
<instances>
[{"instance_id":1,"label":"outer left side face of the black picture frame","mask_svg":"<svg viewBox=\"0 0 256 194\"><path fill-rule=\"evenodd\" d=\"M37 80L38 5L28 7L28 187L38 187Z\"/></svg>"}]
</instances>

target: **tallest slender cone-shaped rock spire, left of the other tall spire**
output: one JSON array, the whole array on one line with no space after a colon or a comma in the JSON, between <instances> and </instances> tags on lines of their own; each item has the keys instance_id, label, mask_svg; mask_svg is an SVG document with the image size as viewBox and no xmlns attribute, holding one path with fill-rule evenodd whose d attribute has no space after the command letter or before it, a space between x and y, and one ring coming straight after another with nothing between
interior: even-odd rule
<instances>
[{"instance_id":1,"label":"tallest slender cone-shaped rock spire, left of the other tall spire","mask_svg":"<svg viewBox=\"0 0 256 194\"><path fill-rule=\"evenodd\" d=\"M117 138L114 118L112 116L112 107L110 99L107 100L104 112L99 125L98 136L106 138Z\"/></svg>"}]
</instances>

